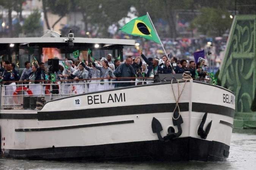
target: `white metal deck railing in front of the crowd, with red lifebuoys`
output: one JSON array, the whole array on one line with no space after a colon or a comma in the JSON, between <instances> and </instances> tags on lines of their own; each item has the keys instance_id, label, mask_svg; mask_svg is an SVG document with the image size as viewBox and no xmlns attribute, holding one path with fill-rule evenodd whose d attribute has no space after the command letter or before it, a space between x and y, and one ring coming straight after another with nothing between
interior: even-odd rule
<instances>
[{"instance_id":1,"label":"white metal deck railing in front of the crowd, with red lifebuoys","mask_svg":"<svg viewBox=\"0 0 256 170\"><path fill-rule=\"evenodd\" d=\"M152 82L152 79L146 80L140 78L134 80L132 83L140 85ZM60 80L55 83L45 83L40 81L39 84L30 82L29 84L5 85L2 83L0 109L24 109L26 108L24 107L24 97L44 98L47 102L53 99L76 94L118 88L115 87L116 83L131 83L131 81L116 81L115 79L86 79L79 80L79 82L74 80Z\"/></svg>"}]
</instances>

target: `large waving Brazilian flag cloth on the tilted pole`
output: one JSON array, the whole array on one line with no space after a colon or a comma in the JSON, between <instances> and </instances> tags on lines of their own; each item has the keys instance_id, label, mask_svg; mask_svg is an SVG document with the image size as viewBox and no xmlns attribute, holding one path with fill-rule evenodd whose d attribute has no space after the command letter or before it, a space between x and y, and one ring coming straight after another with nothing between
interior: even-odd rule
<instances>
[{"instance_id":1,"label":"large waving Brazilian flag cloth on the tilted pole","mask_svg":"<svg viewBox=\"0 0 256 170\"><path fill-rule=\"evenodd\" d=\"M149 18L148 15L144 15L142 17L135 18L124 25L119 29L127 34L133 36L140 36L144 39L148 39L154 41L156 43L161 44Z\"/></svg>"}]
</instances>

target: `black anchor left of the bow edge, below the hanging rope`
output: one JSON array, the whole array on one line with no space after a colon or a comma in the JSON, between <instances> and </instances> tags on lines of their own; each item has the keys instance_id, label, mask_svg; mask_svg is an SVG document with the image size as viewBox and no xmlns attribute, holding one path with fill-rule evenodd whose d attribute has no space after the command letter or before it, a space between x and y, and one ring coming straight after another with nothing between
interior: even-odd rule
<instances>
[{"instance_id":1,"label":"black anchor left of the bow edge, below the hanging rope","mask_svg":"<svg viewBox=\"0 0 256 170\"><path fill-rule=\"evenodd\" d=\"M157 133L157 137L160 141L167 142L167 141L170 141L171 139L176 139L179 136L181 136L181 134L182 134L181 124L182 123L183 123L183 120L182 120L181 114L179 114L178 111L174 111L174 113L173 113L173 125L177 126L177 128L178 128L177 133L168 131L168 134L162 138L162 135L161 135L160 131L162 131L163 128L162 128L161 123L155 117L153 117L153 119L152 119L151 127L152 127L153 133Z\"/></svg>"}]
</instances>

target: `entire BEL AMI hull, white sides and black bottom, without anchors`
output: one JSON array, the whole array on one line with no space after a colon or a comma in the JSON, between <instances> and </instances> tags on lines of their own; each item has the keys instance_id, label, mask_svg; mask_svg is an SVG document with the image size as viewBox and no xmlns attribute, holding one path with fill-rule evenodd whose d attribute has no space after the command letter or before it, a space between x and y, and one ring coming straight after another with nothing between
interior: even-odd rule
<instances>
[{"instance_id":1,"label":"entire BEL AMI hull, white sides and black bottom, without anchors","mask_svg":"<svg viewBox=\"0 0 256 170\"><path fill-rule=\"evenodd\" d=\"M192 80L173 83L179 99L182 134L162 142L152 131L155 117L161 136L173 125L176 105L171 83L155 83L66 97L40 111L1 110L3 157L93 161L224 161L234 118L234 94ZM225 97L224 97L225 96ZM198 135L204 113L212 125Z\"/></svg>"}]
</instances>

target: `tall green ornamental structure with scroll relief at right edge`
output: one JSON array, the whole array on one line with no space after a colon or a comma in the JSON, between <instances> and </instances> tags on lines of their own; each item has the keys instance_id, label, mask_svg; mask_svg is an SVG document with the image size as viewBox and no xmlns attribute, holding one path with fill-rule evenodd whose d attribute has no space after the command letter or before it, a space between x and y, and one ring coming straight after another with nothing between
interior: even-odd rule
<instances>
[{"instance_id":1,"label":"tall green ornamental structure with scroll relief at right edge","mask_svg":"<svg viewBox=\"0 0 256 170\"><path fill-rule=\"evenodd\" d=\"M234 127L256 128L256 15L234 18L218 78L236 95Z\"/></svg>"}]
</instances>

